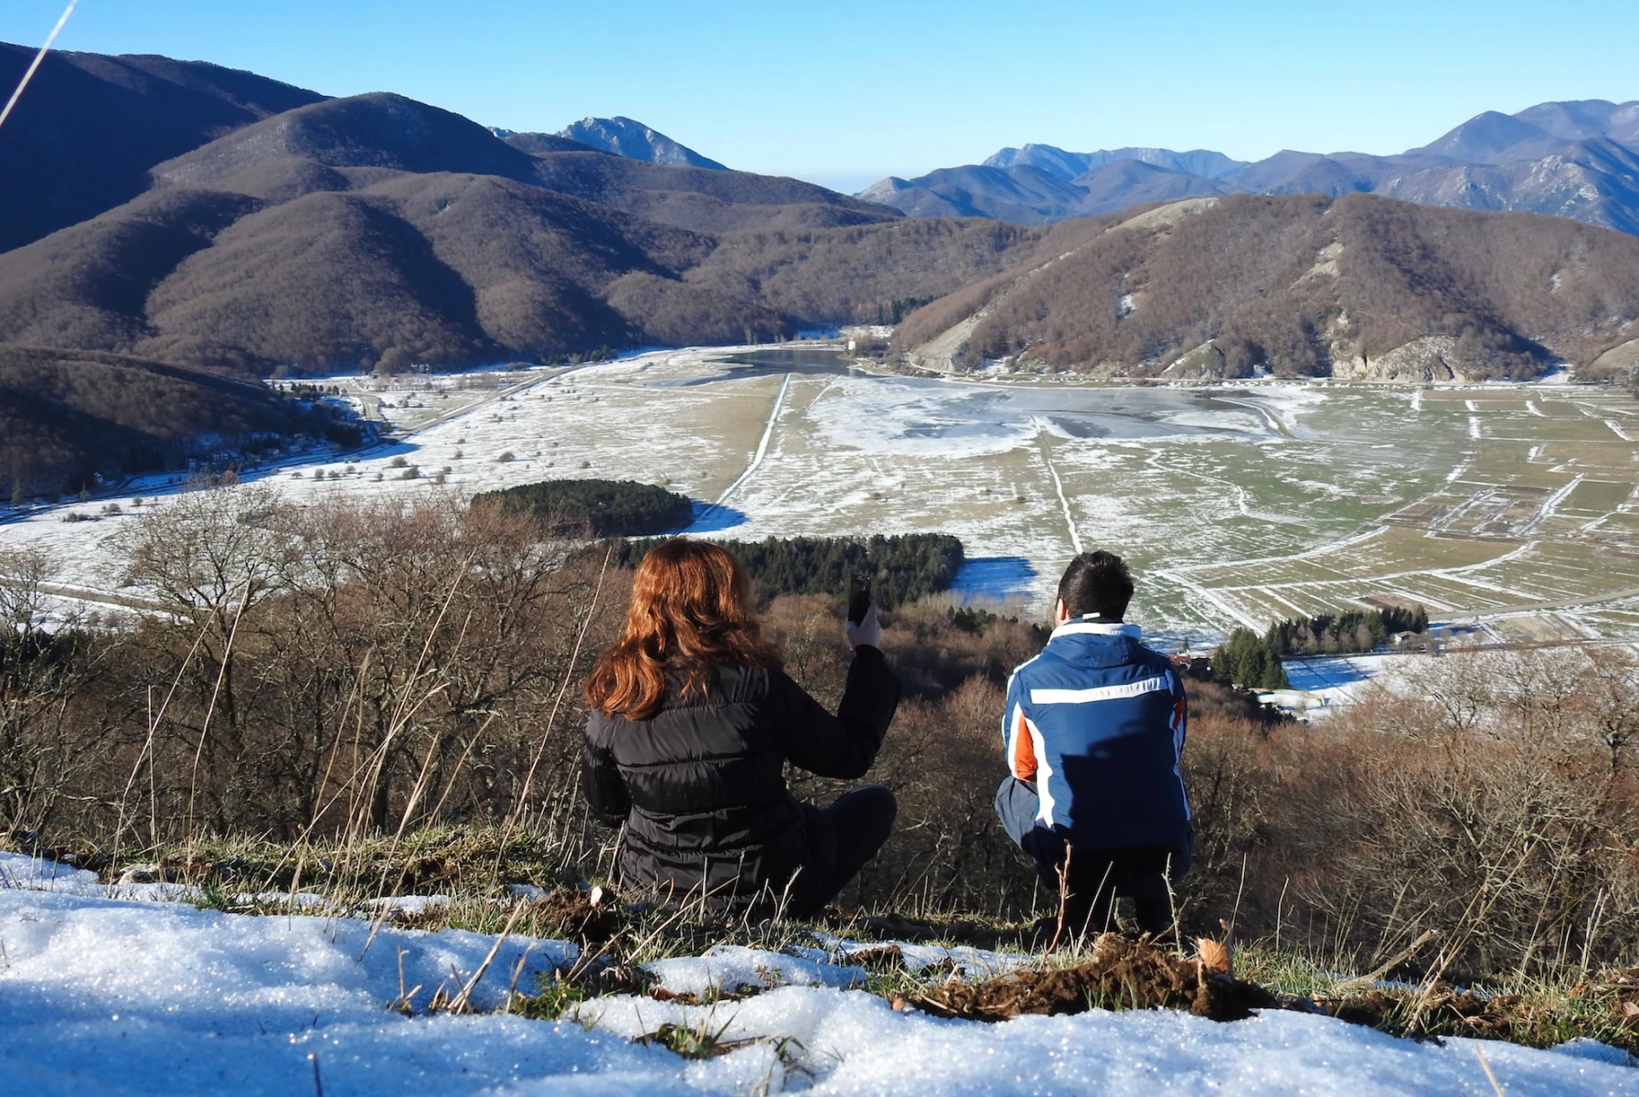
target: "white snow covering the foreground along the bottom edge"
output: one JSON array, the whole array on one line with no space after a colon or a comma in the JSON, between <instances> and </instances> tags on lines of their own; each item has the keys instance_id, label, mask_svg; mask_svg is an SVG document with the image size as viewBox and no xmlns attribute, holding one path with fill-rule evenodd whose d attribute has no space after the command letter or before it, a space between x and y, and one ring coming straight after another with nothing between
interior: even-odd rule
<instances>
[{"instance_id":1,"label":"white snow covering the foreground along the bottom edge","mask_svg":"<svg viewBox=\"0 0 1639 1097\"><path fill-rule=\"evenodd\" d=\"M154 902L90 872L0 853L0 1092L33 1094L1632 1094L1639 1069L1583 1041L1413 1043L1324 1017L1269 1012L1214 1023L1172 1012L1092 1010L1000 1025L897 1013L851 990L862 969L716 949L652 964L674 990L764 982L756 997L685 1007L590 999L559 1022L405 1017L388 1002L457 989L495 938L313 915L246 917ZM575 953L508 940L475 984L493 1008ZM942 949L906 946L913 963ZM982 967L995 954L959 953ZM400 964L403 982L400 982ZM638 1036L665 1023L749 1041L683 1059Z\"/></svg>"}]
</instances>

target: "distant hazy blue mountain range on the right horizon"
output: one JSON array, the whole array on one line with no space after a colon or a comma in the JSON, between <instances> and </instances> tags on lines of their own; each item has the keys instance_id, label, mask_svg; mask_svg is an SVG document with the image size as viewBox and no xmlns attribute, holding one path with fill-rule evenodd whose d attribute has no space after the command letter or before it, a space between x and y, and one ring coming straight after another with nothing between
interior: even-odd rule
<instances>
[{"instance_id":1,"label":"distant hazy blue mountain range on the right horizon","mask_svg":"<svg viewBox=\"0 0 1639 1097\"><path fill-rule=\"evenodd\" d=\"M1195 149L1001 149L983 164L888 177L859 198L910 216L1047 225L1144 202L1228 193L1382 193L1469 210L1523 210L1639 233L1639 100L1487 112L1396 156L1283 151L1257 162Z\"/></svg>"}]
</instances>

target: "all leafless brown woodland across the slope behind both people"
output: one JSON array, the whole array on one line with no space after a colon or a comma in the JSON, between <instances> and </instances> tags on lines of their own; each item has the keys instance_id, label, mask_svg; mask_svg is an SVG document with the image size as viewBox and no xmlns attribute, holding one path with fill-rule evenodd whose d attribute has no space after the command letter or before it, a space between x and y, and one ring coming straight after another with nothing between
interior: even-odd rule
<instances>
[{"instance_id":1,"label":"all leafless brown woodland across the slope behind both people","mask_svg":"<svg viewBox=\"0 0 1639 1097\"><path fill-rule=\"evenodd\" d=\"M543 549L531 518L447 497L295 507L266 485L184 494L118 530L131 592L169 610L129 628L48 620L51 561L0 558L15 623L0 633L0 833L118 869L210 838L385 851L410 828L467 825L487 856L465 861L446 836L393 879L451 894L479 863L508 872L485 894L606 879L611 836L588 826L577 781L577 687L631 582L605 548ZM834 707L836 592L777 595L760 617L787 671ZM870 779L900 813L839 905L1052 910L992 808L1006 676L1046 631L946 600L900 603L883 625L905 700ZM154 715L151 690L170 690ZM1639 959L1631 658L1451 653L1318 725L1213 682L1188 690L1185 931L1234 918L1237 940L1277 938L1328 971L1411 961L1460 985ZM846 787L792 785L820 803ZM262 885L374 885L380 869L298 854Z\"/></svg>"}]
</instances>

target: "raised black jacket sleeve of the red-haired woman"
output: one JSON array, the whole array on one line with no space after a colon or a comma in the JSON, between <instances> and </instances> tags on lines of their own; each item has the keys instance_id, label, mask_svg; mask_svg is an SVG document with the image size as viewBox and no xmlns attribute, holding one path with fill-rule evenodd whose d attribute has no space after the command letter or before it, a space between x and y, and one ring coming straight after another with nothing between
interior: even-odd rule
<instances>
[{"instance_id":1,"label":"raised black jacket sleeve of the red-haired woman","mask_svg":"<svg viewBox=\"0 0 1639 1097\"><path fill-rule=\"evenodd\" d=\"M797 766L821 777L862 777L877 761L882 736L900 707L900 679L882 653L854 648L847 689L836 715L803 692L783 671L769 676L770 721L780 751Z\"/></svg>"}]
</instances>

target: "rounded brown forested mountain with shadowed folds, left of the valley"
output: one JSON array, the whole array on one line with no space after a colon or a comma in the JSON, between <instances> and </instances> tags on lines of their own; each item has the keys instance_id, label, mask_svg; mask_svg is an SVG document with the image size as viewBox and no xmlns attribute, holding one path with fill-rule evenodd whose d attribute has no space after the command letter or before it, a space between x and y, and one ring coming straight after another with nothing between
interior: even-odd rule
<instances>
[{"instance_id":1,"label":"rounded brown forested mountain with shadowed folds, left of the valley","mask_svg":"<svg viewBox=\"0 0 1639 1097\"><path fill-rule=\"evenodd\" d=\"M790 179L529 154L387 93L267 118L154 180L0 254L0 341L269 374L774 339L938 297L1028 243Z\"/></svg>"}]
</instances>

